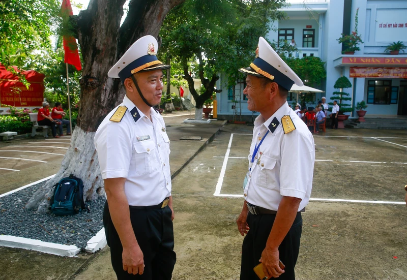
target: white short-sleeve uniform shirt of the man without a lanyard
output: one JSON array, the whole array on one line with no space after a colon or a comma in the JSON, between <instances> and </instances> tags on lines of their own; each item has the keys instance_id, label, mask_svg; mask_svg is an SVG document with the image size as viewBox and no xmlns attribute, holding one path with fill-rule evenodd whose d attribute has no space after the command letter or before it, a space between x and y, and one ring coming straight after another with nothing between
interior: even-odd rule
<instances>
[{"instance_id":1,"label":"white short-sleeve uniform shirt of the man without a lanyard","mask_svg":"<svg viewBox=\"0 0 407 280\"><path fill-rule=\"evenodd\" d=\"M119 106L120 122L109 120ZM129 205L158 205L171 195L170 141L162 116L151 108L150 120L125 96L102 121L95 134L102 178L126 178Z\"/></svg>"}]
</instances>

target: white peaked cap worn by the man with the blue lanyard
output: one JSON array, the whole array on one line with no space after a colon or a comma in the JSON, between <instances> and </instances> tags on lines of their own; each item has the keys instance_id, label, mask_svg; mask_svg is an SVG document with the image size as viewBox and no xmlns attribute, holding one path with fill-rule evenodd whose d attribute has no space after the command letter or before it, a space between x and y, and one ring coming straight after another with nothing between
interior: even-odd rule
<instances>
[{"instance_id":1,"label":"white peaked cap worn by the man with the blue lanyard","mask_svg":"<svg viewBox=\"0 0 407 280\"><path fill-rule=\"evenodd\" d=\"M263 37L258 39L256 58L250 67L241 68L239 71L247 75L269 78L287 90L290 90L293 84L304 85L300 77L288 67Z\"/></svg>"}]
</instances>

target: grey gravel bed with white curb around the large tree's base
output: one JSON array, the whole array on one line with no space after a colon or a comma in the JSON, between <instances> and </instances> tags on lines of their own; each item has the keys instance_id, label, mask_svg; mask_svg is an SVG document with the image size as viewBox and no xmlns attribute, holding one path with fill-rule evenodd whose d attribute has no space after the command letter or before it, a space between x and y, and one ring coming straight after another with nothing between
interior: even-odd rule
<instances>
[{"instance_id":1,"label":"grey gravel bed with white curb around the large tree's base","mask_svg":"<svg viewBox=\"0 0 407 280\"><path fill-rule=\"evenodd\" d=\"M86 247L103 228L102 213L106 198L86 202L91 211L82 210L72 216L55 216L50 211L36 214L24 206L46 181L0 198L0 235L13 235L45 242Z\"/></svg>"}]
</instances>

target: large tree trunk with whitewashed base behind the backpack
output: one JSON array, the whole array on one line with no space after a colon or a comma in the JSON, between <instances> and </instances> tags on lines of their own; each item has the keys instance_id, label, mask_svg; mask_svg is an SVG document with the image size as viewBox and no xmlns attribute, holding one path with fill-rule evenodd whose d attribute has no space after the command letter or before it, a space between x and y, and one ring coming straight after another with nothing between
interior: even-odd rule
<instances>
[{"instance_id":1,"label":"large tree trunk with whitewashed base behind the backpack","mask_svg":"<svg viewBox=\"0 0 407 280\"><path fill-rule=\"evenodd\" d=\"M27 208L45 211L53 184L71 173L83 180L86 200L104 194L93 138L103 118L125 95L120 80L108 78L107 72L138 38L157 38L167 13L185 0L131 0L120 26L125 1L91 0L88 9L73 18L83 57L77 126L60 171L34 194Z\"/></svg>"}]
</instances>

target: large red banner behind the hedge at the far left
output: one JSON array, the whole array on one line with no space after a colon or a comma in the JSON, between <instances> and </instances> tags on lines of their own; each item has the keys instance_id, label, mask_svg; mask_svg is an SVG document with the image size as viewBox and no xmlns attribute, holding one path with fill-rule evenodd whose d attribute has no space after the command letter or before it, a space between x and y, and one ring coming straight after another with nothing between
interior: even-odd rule
<instances>
[{"instance_id":1,"label":"large red banner behind the hedge at the far left","mask_svg":"<svg viewBox=\"0 0 407 280\"><path fill-rule=\"evenodd\" d=\"M15 68L16 69L16 68ZM31 84L26 88L18 77L0 64L0 103L2 107L41 107L44 100L44 74L22 71Z\"/></svg>"}]
</instances>

